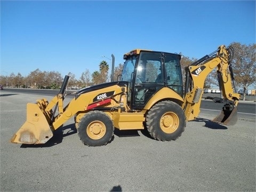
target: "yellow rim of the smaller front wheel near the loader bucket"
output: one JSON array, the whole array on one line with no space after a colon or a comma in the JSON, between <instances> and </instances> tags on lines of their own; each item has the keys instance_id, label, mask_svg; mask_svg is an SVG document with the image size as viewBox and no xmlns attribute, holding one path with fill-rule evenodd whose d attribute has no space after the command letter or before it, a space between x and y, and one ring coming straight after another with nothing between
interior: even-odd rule
<instances>
[{"instance_id":1,"label":"yellow rim of the smaller front wheel near the loader bucket","mask_svg":"<svg viewBox=\"0 0 256 192\"><path fill-rule=\"evenodd\" d=\"M106 133L106 126L101 121L93 121L87 126L86 132L91 139L101 139Z\"/></svg>"}]
</instances>

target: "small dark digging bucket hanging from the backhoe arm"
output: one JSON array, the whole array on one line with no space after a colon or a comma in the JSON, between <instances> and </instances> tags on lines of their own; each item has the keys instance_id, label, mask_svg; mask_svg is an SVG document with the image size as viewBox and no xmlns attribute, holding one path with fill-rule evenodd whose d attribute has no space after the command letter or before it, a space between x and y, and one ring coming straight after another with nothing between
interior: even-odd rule
<instances>
[{"instance_id":1,"label":"small dark digging bucket hanging from the backhoe arm","mask_svg":"<svg viewBox=\"0 0 256 192\"><path fill-rule=\"evenodd\" d=\"M237 122L237 107L224 106L220 114L212 121L225 125L235 125Z\"/></svg>"}]
</instances>

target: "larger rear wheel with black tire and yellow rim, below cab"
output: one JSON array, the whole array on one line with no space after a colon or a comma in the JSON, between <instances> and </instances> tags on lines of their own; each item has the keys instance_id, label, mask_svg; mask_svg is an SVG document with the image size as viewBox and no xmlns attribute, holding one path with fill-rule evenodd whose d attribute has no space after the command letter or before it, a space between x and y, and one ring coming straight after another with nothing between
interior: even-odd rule
<instances>
[{"instance_id":1,"label":"larger rear wheel with black tire and yellow rim, below cab","mask_svg":"<svg viewBox=\"0 0 256 192\"><path fill-rule=\"evenodd\" d=\"M172 101L161 101L147 114L146 127L156 140L171 141L180 137L185 130L186 117L182 108Z\"/></svg>"}]
</instances>

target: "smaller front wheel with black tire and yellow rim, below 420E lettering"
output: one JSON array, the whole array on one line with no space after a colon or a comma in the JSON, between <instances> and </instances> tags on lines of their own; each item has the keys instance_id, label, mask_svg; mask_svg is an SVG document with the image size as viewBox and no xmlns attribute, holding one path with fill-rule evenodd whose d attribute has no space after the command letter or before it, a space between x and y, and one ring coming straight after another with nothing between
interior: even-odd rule
<instances>
[{"instance_id":1,"label":"smaller front wheel with black tire and yellow rim, below 420E lettering","mask_svg":"<svg viewBox=\"0 0 256 192\"><path fill-rule=\"evenodd\" d=\"M114 124L102 111L90 111L77 125L80 140L87 146L106 145L114 135Z\"/></svg>"}]
</instances>

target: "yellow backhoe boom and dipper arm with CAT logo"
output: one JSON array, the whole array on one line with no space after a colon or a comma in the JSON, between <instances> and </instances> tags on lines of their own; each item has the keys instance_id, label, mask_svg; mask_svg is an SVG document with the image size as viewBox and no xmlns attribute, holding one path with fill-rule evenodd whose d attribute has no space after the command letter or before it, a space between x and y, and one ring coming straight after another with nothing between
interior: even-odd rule
<instances>
[{"instance_id":1,"label":"yellow backhoe boom and dipper arm with CAT logo","mask_svg":"<svg viewBox=\"0 0 256 192\"><path fill-rule=\"evenodd\" d=\"M227 110L230 112L237 107L240 95L235 93L234 77L231 68L231 58L233 57L232 47L227 47L225 45L219 46L217 51L205 57L199 59L198 61L192 63L190 66L186 67L186 83L185 83L185 99L182 105L185 115L187 116L187 121L191 121L198 117L200 113L200 105L203 95L204 82L214 68L218 68L218 80L221 91L221 98L210 98L215 102L223 102L226 105L223 107L223 113ZM233 91L235 90L235 92ZM229 118L226 114L223 119L218 118L220 123L225 122ZM215 118L216 119L216 118Z\"/></svg>"}]
</instances>

